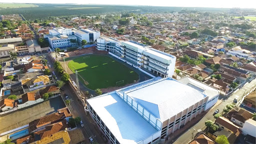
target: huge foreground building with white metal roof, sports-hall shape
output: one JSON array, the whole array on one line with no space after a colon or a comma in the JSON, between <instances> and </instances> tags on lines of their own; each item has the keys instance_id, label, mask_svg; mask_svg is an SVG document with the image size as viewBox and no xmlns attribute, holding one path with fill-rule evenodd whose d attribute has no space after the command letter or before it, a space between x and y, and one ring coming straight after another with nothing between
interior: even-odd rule
<instances>
[{"instance_id":1,"label":"huge foreground building with white metal roof, sports-hall shape","mask_svg":"<svg viewBox=\"0 0 256 144\"><path fill-rule=\"evenodd\" d=\"M183 82L149 79L87 99L87 110L110 144L158 144L212 106L219 95L190 78Z\"/></svg>"}]
</instances>

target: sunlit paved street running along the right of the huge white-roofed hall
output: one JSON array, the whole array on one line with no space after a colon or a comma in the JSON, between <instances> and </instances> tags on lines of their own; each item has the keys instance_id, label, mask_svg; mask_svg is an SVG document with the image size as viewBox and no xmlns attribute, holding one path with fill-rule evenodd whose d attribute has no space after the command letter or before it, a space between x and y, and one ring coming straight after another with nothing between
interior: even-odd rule
<instances>
[{"instance_id":1,"label":"sunlit paved street running along the right of the huge white-roofed hall","mask_svg":"<svg viewBox=\"0 0 256 144\"><path fill-rule=\"evenodd\" d=\"M237 105L239 105L239 103L241 103L241 101L243 100L242 99L243 95L245 96L248 92L250 92L255 88L256 88L256 79L252 80L250 83L245 84L241 89L237 89L229 98L222 99L222 102L219 105L217 105L215 108L210 110L197 124L195 124L194 126L191 126L190 130L183 133L183 135L181 135L173 144L188 144L191 141L193 129L195 129L195 132L194 132L194 135L195 135L198 131L204 130L206 128L204 125L204 122L206 120L215 121L215 119L213 118L213 113L215 110L218 109L220 111L219 113L221 114L223 108L227 104L232 103L234 98L238 100ZM171 143L171 140L166 142L166 144L170 144L170 143Z\"/></svg>"}]
</instances>

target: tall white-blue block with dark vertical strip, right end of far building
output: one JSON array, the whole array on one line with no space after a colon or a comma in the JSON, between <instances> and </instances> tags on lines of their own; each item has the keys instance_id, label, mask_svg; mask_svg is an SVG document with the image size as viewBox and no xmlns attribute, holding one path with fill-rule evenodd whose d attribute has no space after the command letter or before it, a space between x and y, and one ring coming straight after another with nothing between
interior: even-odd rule
<instances>
[{"instance_id":1,"label":"tall white-blue block with dark vertical strip, right end of far building","mask_svg":"<svg viewBox=\"0 0 256 144\"><path fill-rule=\"evenodd\" d=\"M77 42L79 43L82 40L94 42L100 36L100 32L93 29L79 29L74 31L74 36L77 37Z\"/></svg>"}]
</instances>

